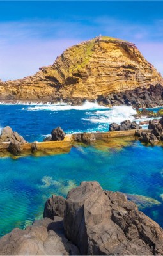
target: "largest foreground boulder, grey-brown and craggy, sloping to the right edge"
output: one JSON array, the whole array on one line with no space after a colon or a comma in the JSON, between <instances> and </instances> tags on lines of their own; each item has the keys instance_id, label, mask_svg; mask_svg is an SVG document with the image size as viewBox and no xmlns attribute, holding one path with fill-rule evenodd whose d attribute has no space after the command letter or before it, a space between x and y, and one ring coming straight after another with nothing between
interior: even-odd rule
<instances>
[{"instance_id":1,"label":"largest foreground boulder, grey-brown and craggy, sloping to the right edge","mask_svg":"<svg viewBox=\"0 0 163 256\"><path fill-rule=\"evenodd\" d=\"M121 193L82 182L66 199L64 228L82 255L162 255L162 228Z\"/></svg>"}]
</instances>

